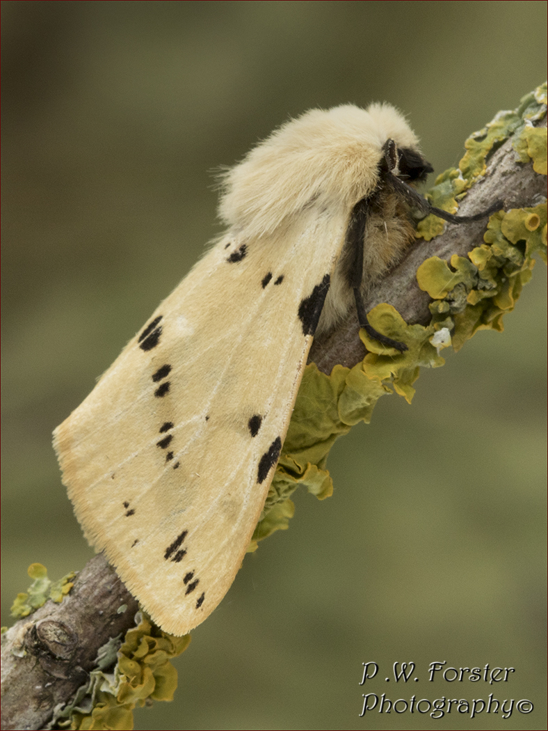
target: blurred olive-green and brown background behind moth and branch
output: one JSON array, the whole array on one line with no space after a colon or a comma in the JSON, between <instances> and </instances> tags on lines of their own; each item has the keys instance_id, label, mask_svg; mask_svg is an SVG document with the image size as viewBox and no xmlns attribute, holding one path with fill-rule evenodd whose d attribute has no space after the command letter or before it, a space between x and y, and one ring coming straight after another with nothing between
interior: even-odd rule
<instances>
[{"instance_id":1,"label":"blurred olive-green and brown background behind moth and branch","mask_svg":"<svg viewBox=\"0 0 548 731\"><path fill-rule=\"evenodd\" d=\"M33 561L92 555L50 433L219 231L211 171L289 115L387 100L441 172L544 80L544 2L5 1L4 593ZM275 192L273 192L275 195ZM331 499L248 556L177 661L175 701L137 729L414 729L392 700L528 698L544 716L546 272L506 332L479 333L335 445ZM175 599L176 600L176 599ZM515 667L426 681L433 661ZM381 665L359 686L362 662ZM418 683L386 683L414 661ZM412 685L412 686L411 686ZM439 728L467 728L452 713Z\"/></svg>"}]
</instances>

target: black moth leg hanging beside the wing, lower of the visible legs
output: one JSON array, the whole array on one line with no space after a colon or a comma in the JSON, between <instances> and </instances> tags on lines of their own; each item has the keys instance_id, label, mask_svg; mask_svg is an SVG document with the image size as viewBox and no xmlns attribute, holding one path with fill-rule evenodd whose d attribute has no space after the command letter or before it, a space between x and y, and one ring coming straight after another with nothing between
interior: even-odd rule
<instances>
[{"instance_id":1,"label":"black moth leg hanging beside the wing, lower of the visible legs","mask_svg":"<svg viewBox=\"0 0 548 731\"><path fill-rule=\"evenodd\" d=\"M400 343L397 340L392 340L381 333L378 333L375 328L369 324L367 313L365 312L365 305L362 297L362 279L363 279L363 247L365 240L365 224L368 219L370 200L368 198L362 198L352 211L349 229L346 232L346 245L351 250L351 266L347 274L347 281L349 287L354 292L354 300L356 301L356 311L358 314L359 327L363 327L368 336L375 338L383 345L389 348L395 348L403 353L407 350L405 343Z\"/></svg>"}]
</instances>

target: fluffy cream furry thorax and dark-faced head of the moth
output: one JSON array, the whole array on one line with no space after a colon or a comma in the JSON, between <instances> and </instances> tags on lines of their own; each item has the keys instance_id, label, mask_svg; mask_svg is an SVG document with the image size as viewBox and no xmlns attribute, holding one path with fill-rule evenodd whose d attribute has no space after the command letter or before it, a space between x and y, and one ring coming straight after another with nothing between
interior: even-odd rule
<instances>
[{"instance_id":1,"label":"fluffy cream furry thorax and dark-faced head of the moth","mask_svg":"<svg viewBox=\"0 0 548 731\"><path fill-rule=\"evenodd\" d=\"M416 181L432 169L391 105L311 110L283 124L222 176L219 215L255 238L291 225L311 205L350 213L378 186L387 140L395 145L391 173Z\"/></svg>"}]
</instances>

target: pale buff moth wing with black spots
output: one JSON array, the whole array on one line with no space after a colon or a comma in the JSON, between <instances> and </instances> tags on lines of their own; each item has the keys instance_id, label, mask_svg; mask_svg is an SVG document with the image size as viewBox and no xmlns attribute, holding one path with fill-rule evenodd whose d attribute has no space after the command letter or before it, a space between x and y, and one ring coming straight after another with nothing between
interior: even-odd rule
<instances>
[{"instance_id":1,"label":"pale buff moth wing with black spots","mask_svg":"<svg viewBox=\"0 0 548 731\"><path fill-rule=\"evenodd\" d=\"M54 433L86 538L174 635L240 568L347 219L311 206L283 234L227 235Z\"/></svg>"}]
</instances>

